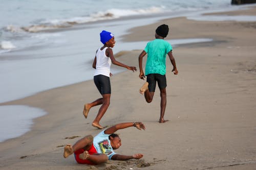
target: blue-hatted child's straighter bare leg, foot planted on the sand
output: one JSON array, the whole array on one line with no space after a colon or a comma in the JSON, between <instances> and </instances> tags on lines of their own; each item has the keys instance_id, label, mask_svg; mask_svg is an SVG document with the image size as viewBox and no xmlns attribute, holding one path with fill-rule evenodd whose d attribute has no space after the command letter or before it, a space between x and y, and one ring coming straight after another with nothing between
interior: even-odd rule
<instances>
[{"instance_id":1,"label":"blue-hatted child's straighter bare leg, foot planted on the sand","mask_svg":"<svg viewBox=\"0 0 256 170\"><path fill-rule=\"evenodd\" d=\"M105 114L106 109L108 109L110 105L110 95L111 94L103 94L103 100L102 100L102 105L99 108L99 112L96 116L96 118L93 120L92 126L98 128L98 129L103 129L102 126L100 126L99 121L102 118L102 116Z\"/></svg>"}]
</instances>

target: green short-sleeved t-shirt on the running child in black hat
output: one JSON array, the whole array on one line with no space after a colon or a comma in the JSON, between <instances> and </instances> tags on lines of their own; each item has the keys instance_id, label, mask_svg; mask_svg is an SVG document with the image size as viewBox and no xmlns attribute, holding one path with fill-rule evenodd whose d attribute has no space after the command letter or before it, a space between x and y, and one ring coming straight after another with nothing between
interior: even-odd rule
<instances>
[{"instance_id":1,"label":"green short-sleeved t-shirt on the running child in black hat","mask_svg":"<svg viewBox=\"0 0 256 170\"><path fill-rule=\"evenodd\" d=\"M147 53L145 75L166 73L166 54L173 50L172 45L163 39L155 39L146 44Z\"/></svg>"}]
</instances>

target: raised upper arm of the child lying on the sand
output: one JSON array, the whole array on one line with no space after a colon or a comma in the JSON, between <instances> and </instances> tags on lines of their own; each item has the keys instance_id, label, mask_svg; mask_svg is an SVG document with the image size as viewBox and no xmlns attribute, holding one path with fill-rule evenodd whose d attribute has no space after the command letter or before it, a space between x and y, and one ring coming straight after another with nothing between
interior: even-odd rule
<instances>
[{"instance_id":1,"label":"raised upper arm of the child lying on the sand","mask_svg":"<svg viewBox=\"0 0 256 170\"><path fill-rule=\"evenodd\" d=\"M128 127L133 127L133 126L136 127L139 130L141 130L141 129L145 130L145 126L141 122L130 122L130 123L121 123L121 124L117 124L115 126L112 126L108 129L106 129L104 131L104 133L105 134L112 134L112 133L115 133L119 129L124 129L124 128L128 128Z\"/></svg>"}]
</instances>

